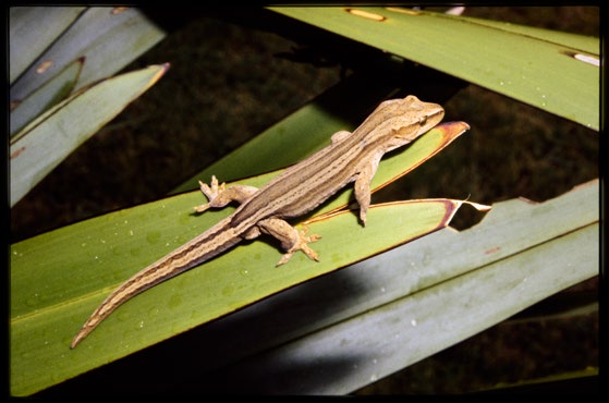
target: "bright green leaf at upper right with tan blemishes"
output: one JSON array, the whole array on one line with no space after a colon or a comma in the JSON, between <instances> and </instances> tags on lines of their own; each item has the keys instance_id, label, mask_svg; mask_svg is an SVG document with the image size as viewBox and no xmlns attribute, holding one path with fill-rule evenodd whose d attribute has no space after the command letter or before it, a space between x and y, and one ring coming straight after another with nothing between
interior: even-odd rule
<instances>
[{"instance_id":1,"label":"bright green leaf at upper right with tan blemishes","mask_svg":"<svg viewBox=\"0 0 609 403\"><path fill-rule=\"evenodd\" d=\"M503 94L587 127L599 127L599 40L508 23L397 8L270 8Z\"/></svg>"}]
</instances>

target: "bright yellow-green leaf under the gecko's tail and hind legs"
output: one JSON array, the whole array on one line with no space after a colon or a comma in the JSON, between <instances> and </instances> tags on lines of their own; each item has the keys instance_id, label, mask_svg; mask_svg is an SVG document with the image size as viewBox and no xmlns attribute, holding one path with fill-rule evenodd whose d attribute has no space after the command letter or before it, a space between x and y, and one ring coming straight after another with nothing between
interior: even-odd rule
<instances>
[{"instance_id":1,"label":"bright yellow-green leaf under the gecko's tail and hind legs","mask_svg":"<svg viewBox=\"0 0 609 403\"><path fill-rule=\"evenodd\" d=\"M435 231L444 227L461 205L452 200L415 200L375 206L368 212L370 222L365 229L350 211L310 223L310 231L325 237L315 244L320 262L300 254L287 266L276 268L281 256L276 247L264 242L237 247L148 290L109 317L78 347L70 350L72 337L109 291L130 273L200 232L203 225L195 221L210 224L212 217L185 212L185 205L196 202L194 196L197 195L185 194L119 211L13 245L14 394L29 394L337 267ZM389 223L394 231L387 231ZM350 230L344 231L345 228Z\"/></svg>"}]
</instances>

